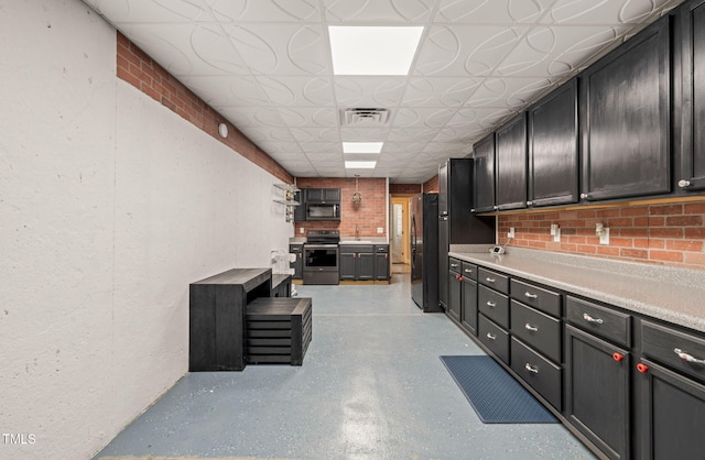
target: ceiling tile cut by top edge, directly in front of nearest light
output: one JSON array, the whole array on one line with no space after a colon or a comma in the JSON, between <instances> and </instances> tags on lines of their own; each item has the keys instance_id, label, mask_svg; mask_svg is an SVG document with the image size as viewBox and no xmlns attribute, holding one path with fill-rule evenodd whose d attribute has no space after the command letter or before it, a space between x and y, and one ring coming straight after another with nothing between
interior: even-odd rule
<instances>
[{"instance_id":1,"label":"ceiling tile cut by top edge, directly in front of nearest light","mask_svg":"<svg viewBox=\"0 0 705 460\"><path fill-rule=\"evenodd\" d=\"M435 0L324 0L330 23L419 23L431 18ZM389 24L386 24L389 25Z\"/></svg>"}]
</instances>

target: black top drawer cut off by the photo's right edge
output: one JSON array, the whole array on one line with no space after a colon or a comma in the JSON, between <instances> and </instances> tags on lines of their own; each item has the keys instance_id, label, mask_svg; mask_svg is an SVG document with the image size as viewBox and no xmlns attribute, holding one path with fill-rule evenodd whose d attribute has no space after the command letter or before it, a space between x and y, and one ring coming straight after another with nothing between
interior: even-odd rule
<instances>
[{"instance_id":1,"label":"black top drawer cut off by the photo's right edge","mask_svg":"<svg viewBox=\"0 0 705 460\"><path fill-rule=\"evenodd\" d=\"M654 361L705 382L705 339L702 337L641 321L641 349Z\"/></svg>"}]
</instances>

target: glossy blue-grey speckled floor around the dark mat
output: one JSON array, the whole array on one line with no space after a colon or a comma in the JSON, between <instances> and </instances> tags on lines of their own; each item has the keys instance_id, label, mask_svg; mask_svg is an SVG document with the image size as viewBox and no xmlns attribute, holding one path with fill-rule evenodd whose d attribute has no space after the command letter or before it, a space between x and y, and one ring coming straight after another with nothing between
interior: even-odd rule
<instances>
[{"instance_id":1,"label":"glossy blue-grey speckled floor around the dark mat","mask_svg":"<svg viewBox=\"0 0 705 460\"><path fill-rule=\"evenodd\" d=\"M303 366L189 373L116 437L113 457L592 459L562 425L484 425L442 354L482 354L409 275L389 285L297 285L313 297Z\"/></svg>"}]
</instances>

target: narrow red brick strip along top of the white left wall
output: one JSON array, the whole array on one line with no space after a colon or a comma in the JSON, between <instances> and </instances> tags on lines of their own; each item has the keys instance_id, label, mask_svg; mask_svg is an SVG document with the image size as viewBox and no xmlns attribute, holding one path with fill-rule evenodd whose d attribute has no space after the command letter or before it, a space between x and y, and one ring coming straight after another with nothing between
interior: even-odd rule
<instances>
[{"instance_id":1,"label":"narrow red brick strip along top of the white left wall","mask_svg":"<svg viewBox=\"0 0 705 460\"><path fill-rule=\"evenodd\" d=\"M130 42L120 32L118 34L117 76L134 86L162 106L188 120L206 133L223 142L274 177L291 184L292 175L264 151L245 136L234 124L194 95L162 66ZM218 125L228 125L228 136L220 138Z\"/></svg>"}]
</instances>

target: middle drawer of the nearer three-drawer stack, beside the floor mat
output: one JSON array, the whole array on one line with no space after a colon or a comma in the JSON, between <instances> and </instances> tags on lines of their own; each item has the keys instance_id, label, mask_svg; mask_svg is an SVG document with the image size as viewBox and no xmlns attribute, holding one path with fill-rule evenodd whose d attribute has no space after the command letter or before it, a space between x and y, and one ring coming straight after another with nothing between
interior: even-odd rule
<instances>
[{"instance_id":1,"label":"middle drawer of the nearer three-drawer stack, beside the floor mat","mask_svg":"<svg viewBox=\"0 0 705 460\"><path fill-rule=\"evenodd\" d=\"M511 300L511 332L555 362L561 362L561 320Z\"/></svg>"}]
</instances>

